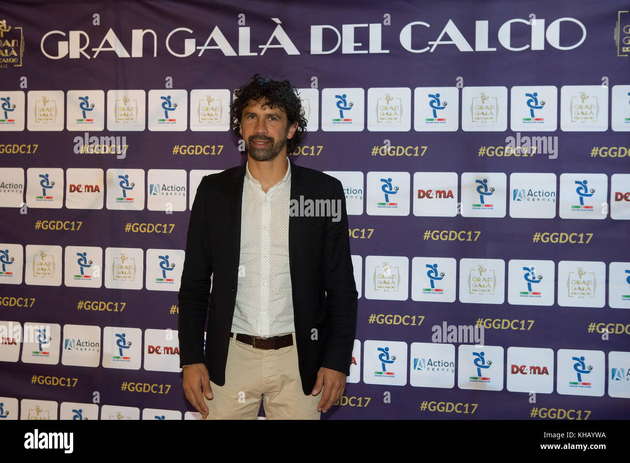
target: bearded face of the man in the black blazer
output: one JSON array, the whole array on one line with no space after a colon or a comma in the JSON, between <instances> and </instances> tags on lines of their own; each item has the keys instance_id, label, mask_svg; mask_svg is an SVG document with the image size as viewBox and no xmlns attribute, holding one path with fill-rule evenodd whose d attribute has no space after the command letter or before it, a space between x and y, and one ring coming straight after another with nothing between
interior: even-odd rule
<instances>
[{"instance_id":1,"label":"bearded face of the man in the black blazer","mask_svg":"<svg viewBox=\"0 0 630 463\"><path fill-rule=\"evenodd\" d=\"M265 103L249 101L241 117L241 136L249 156L256 161L272 161L281 152L286 155L287 140L297 128L297 122L289 126L282 108L270 108Z\"/></svg>"}]
</instances>

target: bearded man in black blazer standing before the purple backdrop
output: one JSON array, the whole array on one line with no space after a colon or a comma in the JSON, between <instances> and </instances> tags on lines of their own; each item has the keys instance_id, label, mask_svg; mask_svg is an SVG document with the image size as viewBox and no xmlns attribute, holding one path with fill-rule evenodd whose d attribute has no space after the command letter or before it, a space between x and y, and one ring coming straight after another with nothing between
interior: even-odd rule
<instances>
[{"instance_id":1,"label":"bearded man in black blazer standing before the purple backdrop","mask_svg":"<svg viewBox=\"0 0 630 463\"><path fill-rule=\"evenodd\" d=\"M203 418L256 418L262 399L267 418L319 419L345 389L357 322L345 195L287 157L306 128L289 81L256 74L234 95L248 161L197 189L179 294L183 388ZM309 200L330 214L296 213Z\"/></svg>"}]
</instances>

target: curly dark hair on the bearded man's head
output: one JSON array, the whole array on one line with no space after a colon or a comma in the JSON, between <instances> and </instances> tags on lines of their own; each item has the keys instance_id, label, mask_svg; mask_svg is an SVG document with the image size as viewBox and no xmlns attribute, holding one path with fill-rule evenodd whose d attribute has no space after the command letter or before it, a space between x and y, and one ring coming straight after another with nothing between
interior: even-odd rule
<instances>
[{"instance_id":1,"label":"curly dark hair on the bearded man's head","mask_svg":"<svg viewBox=\"0 0 630 463\"><path fill-rule=\"evenodd\" d=\"M292 153L302 141L306 132L306 118L297 89L289 81L273 81L263 79L260 74L255 74L251 81L234 91L234 101L230 105L230 120L232 130L239 138L242 137L239 123L243 117L243 109L249 105L249 101L266 101L270 108L281 108L287 113L289 125L297 122L297 129L293 137L287 140L287 153Z\"/></svg>"}]
</instances>

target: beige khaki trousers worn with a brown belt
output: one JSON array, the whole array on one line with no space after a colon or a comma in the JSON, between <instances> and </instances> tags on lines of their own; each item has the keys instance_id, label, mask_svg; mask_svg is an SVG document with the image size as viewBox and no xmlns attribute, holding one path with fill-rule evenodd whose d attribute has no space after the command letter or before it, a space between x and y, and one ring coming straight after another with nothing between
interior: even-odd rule
<instances>
[{"instance_id":1,"label":"beige khaki trousers worn with a brown belt","mask_svg":"<svg viewBox=\"0 0 630 463\"><path fill-rule=\"evenodd\" d=\"M304 395L293 345L256 349L232 337L227 351L226 384L210 381L212 400L203 397L207 420L255 420L260 403L269 420L319 420L318 396Z\"/></svg>"}]
</instances>

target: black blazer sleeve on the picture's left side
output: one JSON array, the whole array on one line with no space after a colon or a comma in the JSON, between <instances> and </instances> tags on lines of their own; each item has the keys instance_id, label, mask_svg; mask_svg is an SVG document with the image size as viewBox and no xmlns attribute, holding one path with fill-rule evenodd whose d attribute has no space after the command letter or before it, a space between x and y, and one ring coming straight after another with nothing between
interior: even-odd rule
<instances>
[{"instance_id":1,"label":"black blazer sleeve on the picture's left side","mask_svg":"<svg viewBox=\"0 0 630 463\"><path fill-rule=\"evenodd\" d=\"M186 257L178 294L180 367L203 363L203 327L207 318L212 275L207 222L207 202L210 194L208 179L203 177L197 188L186 236Z\"/></svg>"}]
</instances>

